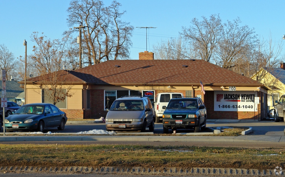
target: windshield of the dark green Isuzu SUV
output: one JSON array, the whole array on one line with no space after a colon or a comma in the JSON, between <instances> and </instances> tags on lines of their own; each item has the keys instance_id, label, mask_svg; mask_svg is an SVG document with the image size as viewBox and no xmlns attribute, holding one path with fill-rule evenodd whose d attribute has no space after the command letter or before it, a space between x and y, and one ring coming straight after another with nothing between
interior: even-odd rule
<instances>
[{"instance_id":1,"label":"windshield of the dark green Isuzu SUV","mask_svg":"<svg viewBox=\"0 0 285 177\"><path fill-rule=\"evenodd\" d=\"M180 109L180 108L185 108L185 109L197 109L197 101L195 99L188 99L188 100L171 100L167 106L168 109Z\"/></svg>"}]
</instances>

